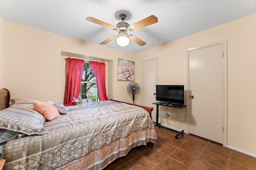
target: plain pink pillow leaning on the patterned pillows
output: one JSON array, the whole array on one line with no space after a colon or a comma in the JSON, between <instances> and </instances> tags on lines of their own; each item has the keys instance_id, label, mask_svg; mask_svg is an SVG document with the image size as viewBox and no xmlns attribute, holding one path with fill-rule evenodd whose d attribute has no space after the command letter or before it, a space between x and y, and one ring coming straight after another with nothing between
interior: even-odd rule
<instances>
[{"instance_id":1,"label":"plain pink pillow leaning on the patterned pillows","mask_svg":"<svg viewBox=\"0 0 256 170\"><path fill-rule=\"evenodd\" d=\"M47 120L51 121L60 115L56 107L48 102L34 101L33 107L36 111L41 113Z\"/></svg>"}]
</instances>

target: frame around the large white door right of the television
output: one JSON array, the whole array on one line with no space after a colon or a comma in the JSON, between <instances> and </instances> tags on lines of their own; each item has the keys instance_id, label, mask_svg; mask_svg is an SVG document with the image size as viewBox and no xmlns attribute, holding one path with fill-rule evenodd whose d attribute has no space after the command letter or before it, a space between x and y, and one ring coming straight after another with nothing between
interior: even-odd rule
<instances>
[{"instance_id":1,"label":"frame around the large white door right of the television","mask_svg":"<svg viewBox=\"0 0 256 170\"><path fill-rule=\"evenodd\" d=\"M187 88L186 90L186 103L188 116L186 118L186 129L189 133L189 116L190 116L190 89L189 89L189 52L196 49L202 49L214 45L222 44L223 47L223 60L222 60L222 83L223 83L223 146L228 146L228 71L227 71L227 40L210 43L198 47L187 49Z\"/></svg>"}]
</instances>

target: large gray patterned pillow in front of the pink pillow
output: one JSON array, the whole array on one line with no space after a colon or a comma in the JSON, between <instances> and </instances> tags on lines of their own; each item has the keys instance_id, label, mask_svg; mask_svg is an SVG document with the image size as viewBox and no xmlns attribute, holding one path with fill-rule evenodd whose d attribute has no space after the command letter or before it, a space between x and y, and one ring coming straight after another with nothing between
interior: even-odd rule
<instances>
[{"instance_id":1,"label":"large gray patterned pillow in front of the pink pillow","mask_svg":"<svg viewBox=\"0 0 256 170\"><path fill-rule=\"evenodd\" d=\"M46 119L43 115L22 105L12 105L0 111L0 129L21 132L26 135L48 133L44 128Z\"/></svg>"}]
</instances>

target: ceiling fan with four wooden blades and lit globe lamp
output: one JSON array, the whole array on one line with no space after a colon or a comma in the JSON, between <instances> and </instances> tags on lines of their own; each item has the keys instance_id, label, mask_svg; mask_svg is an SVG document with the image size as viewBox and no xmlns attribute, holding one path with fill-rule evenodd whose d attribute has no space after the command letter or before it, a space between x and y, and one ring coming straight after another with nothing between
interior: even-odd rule
<instances>
[{"instance_id":1,"label":"ceiling fan with four wooden blades and lit globe lamp","mask_svg":"<svg viewBox=\"0 0 256 170\"><path fill-rule=\"evenodd\" d=\"M145 45L146 42L142 41L135 35L128 35L127 33L128 33L128 31L134 31L134 30L146 27L148 25L151 25L153 23L157 23L158 22L157 17L152 15L152 16L144 18L143 20L140 20L132 25L130 25L129 23L124 21L126 19L126 17L127 17L126 14L120 14L119 18L122 21L118 22L115 27L113 25L110 25L103 21L97 20L96 18L93 18L93 17L87 17L86 20L96 23L98 25L102 25L104 27L108 27L110 29L116 30L116 32L118 33L118 35L113 35L112 37L109 37L108 39L102 41L100 43L101 45L105 45L106 43L108 43L114 39L117 39L117 44L122 47L129 44L129 39L134 41L135 43L137 43L140 46Z\"/></svg>"}]
</instances>

